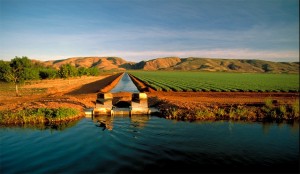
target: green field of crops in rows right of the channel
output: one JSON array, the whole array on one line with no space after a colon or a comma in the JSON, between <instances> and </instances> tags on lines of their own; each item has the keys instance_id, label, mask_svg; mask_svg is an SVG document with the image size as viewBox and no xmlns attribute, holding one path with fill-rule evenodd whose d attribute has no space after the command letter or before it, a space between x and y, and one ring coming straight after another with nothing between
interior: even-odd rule
<instances>
[{"instance_id":1,"label":"green field of crops in rows right of the channel","mask_svg":"<svg viewBox=\"0 0 300 174\"><path fill-rule=\"evenodd\" d=\"M299 74L132 71L157 91L299 92Z\"/></svg>"}]
</instances>

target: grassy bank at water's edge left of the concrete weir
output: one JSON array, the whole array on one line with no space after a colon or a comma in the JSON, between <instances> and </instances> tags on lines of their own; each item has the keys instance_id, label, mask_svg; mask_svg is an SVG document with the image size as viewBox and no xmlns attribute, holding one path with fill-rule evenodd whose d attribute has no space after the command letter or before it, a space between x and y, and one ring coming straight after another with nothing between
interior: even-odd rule
<instances>
[{"instance_id":1,"label":"grassy bank at water's edge left of the concrete weir","mask_svg":"<svg viewBox=\"0 0 300 174\"><path fill-rule=\"evenodd\" d=\"M38 108L11 112L0 111L0 124L51 124L79 118L79 111L73 108Z\"/></svg>"}]
</instances>

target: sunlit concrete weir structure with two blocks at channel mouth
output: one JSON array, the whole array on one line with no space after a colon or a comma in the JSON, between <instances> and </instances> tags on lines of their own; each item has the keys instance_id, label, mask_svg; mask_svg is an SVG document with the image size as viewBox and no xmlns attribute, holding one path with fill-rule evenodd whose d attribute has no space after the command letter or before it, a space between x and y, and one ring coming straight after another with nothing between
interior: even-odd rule
<instances>
[{"instance_id":1,"label":"sunlit concrete weir structure with two blocks at channel mouth","mask_svg":"<svg viewBox=\"0 0 300 174\"><path fill-rule=\"evenodd\" d=\"M132 93L131 100L118 101L113 105L113 93L98 93L93 115L149 115L158 112L149 108L146 93Z\"/></svg>"}]
</instances>

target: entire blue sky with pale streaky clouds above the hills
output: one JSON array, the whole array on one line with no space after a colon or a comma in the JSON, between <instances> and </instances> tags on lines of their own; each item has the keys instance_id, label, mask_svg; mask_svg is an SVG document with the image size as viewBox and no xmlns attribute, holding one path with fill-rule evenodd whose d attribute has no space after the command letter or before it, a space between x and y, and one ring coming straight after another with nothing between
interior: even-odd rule
<instances>
[{"instance_id":1,"label":"entire blue sky with pale streaky clouds above the hills","mask_svg":"<svg viewBox=\"0 0 300 174\"><path fill-rule=\"evenodd\" d=\"M299 61L299 0L0 0L0 59Z\"/></svg>"}]
</instances>

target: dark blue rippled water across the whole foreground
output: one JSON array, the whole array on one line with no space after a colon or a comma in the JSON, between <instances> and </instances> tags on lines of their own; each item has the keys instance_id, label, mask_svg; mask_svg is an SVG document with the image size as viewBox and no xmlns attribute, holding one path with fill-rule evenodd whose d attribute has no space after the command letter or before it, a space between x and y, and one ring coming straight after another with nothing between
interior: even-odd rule
<instances>
[{"instance_id":1,"label":"dark blue rippled water across the whole foreground","mask_svg":"<svg viewBox=\"0 0 300 174\"><path fill-rule=\"evenodd\" d=\"M299 171L299 123L115 116L0 135L0 173Z\"/></svg>"}]
</instances>

